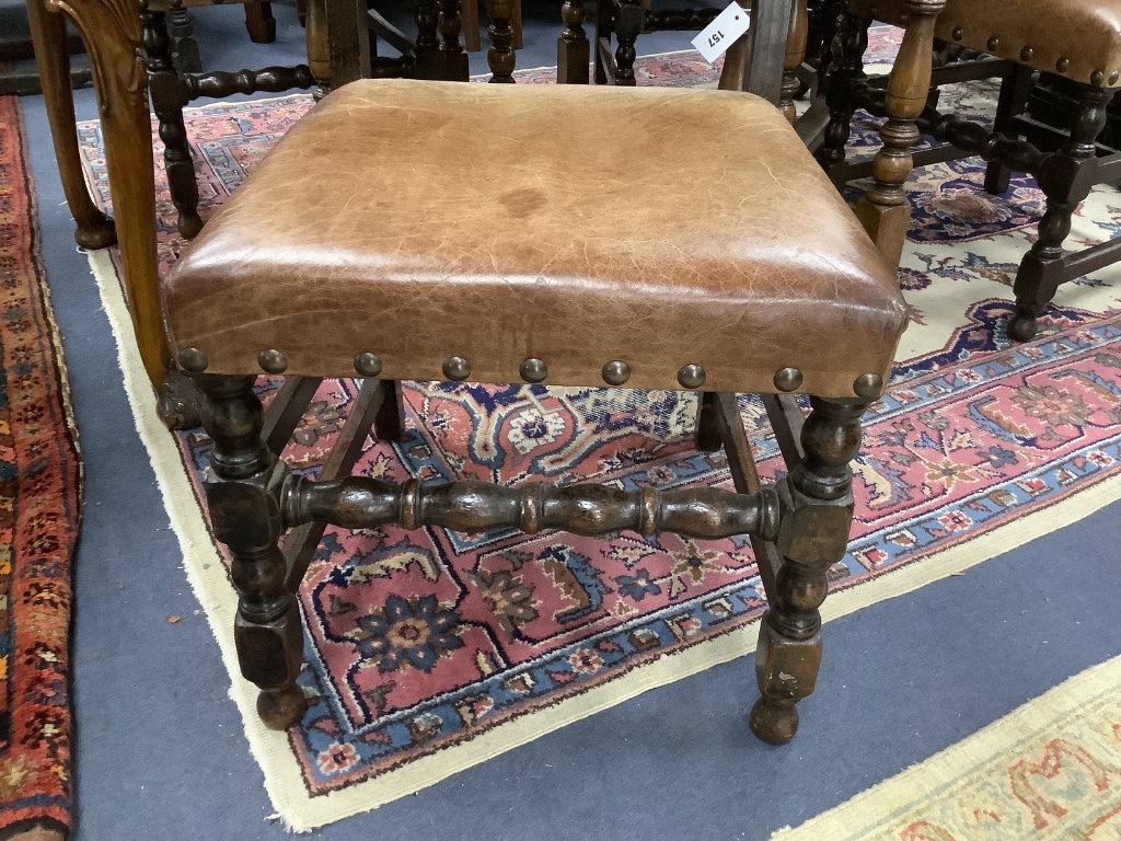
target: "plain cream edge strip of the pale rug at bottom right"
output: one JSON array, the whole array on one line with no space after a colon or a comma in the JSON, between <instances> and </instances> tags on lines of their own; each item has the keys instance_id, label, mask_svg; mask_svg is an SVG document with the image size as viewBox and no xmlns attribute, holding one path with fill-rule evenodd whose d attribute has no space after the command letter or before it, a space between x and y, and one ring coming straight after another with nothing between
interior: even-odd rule
<instances>
[{"instance_id":1,"label":"plain cream edge strip of the pale rug at bottom right","mask_svg":"<svg viewBox=\"0 0 1121 841\"><path fill-rule=\"evenodd\" d=\"M785 826L771 841L856 841L912 813L927 795L969 777L981 766L1038 739L1072 714L1121 691L1121 657L1092 666L998 719L956 745L867 788L797 829Z\"/></svg>"}]
</instances>

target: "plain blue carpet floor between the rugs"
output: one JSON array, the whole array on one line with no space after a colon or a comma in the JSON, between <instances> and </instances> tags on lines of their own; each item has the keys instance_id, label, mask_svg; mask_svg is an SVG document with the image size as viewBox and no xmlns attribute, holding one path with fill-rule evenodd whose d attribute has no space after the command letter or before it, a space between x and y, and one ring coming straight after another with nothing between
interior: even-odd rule
<instances>
[{"instance_id":1,"label":"plain blue carpet floor between the rugs","mask_svg":"<svg viewBox=\"0 0 1121 841\"><path fill-rule=\"evenodd\" d=\"M212 66L282 64L239 8L194 13ZM527 7L524 67L558 17ZM590 16L591 17L591 16ZM668 38L645 52L678 48ZM473 72L483 72L473 56ZM135 433L109 325L73 244L39 98L22 100L54 306L86 460L75 574L75 841L281 839ZM94 117L89 92L84 118ZM415 796L317 831L343 839L766 839L1121 654L1121 505L826 627L818 691L785 748L756 741L750 662L641 695ZM169 623L172 616L183 617Z\"/></svg>"}]
</instances>

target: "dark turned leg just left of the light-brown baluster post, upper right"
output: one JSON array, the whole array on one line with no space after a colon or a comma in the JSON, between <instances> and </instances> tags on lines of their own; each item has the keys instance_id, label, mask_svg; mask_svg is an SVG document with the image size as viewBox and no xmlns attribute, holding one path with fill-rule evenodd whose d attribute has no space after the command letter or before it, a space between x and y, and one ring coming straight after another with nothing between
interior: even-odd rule
<instances>
[{"instance_id":1,"label":"dark turned leg just left of the light-brown baluster post, upper right","mask_svg":"<svg viewBox=\"0 0 1121 841\"><path fill-rule=\"evenodd\" d=\"M837 190L844 167L845 145L852 132L852 115L856 112L856 93L868 81L864 74L864 50L868 49L868 27L872 21L843 12L836 21L836 34L832 38L832 63L825 90L825 104L830 109L830 122L825 127L822 146L817 150L817 163L833 178Z\"/></svg>"}]
</instances>

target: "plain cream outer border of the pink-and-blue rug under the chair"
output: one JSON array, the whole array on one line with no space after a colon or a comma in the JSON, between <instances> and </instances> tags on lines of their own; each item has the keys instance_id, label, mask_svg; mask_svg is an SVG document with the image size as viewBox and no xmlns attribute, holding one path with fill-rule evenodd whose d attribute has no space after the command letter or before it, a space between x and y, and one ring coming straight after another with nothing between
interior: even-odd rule
<instances>
[{"instance_id":1,"label":"plain cream outer border of the pink-and-blue rug under the chair","mask_svg":"<svg viewBox=\"0 0 1121 841\"><path fill-rule=\"evenodd\" d=\"M555 706L497 727L464 745L421 757L380 777L339 792L314 798L308 796L287 737L268 730L260 723L256 711L257 690L240 676L232 634L237 597L211 542L202 511L194 500L179 452L156 413L155 395L132 339L130 317L109 251L89 252L89 259L117 341L118 361L137 432L148 450L172 528L179 539L187 580L202 603L231 675L230 696L241 712L250 750L265 771L265 788L279 817L290 830L309 832L317 826L377 808L647 690L679 681L754 650L754 626L749 626L679 654L661 657L582 695L565 699ZM835 593L823 606L823 619L830 621L846 616L874 602L909 593L960 573L1075 523L1119 496L1121 475L1099 482L1093 488L1055 503L1048 509L1048 516L1012 521L930 558Z\"/></svg>"}]
</instances>

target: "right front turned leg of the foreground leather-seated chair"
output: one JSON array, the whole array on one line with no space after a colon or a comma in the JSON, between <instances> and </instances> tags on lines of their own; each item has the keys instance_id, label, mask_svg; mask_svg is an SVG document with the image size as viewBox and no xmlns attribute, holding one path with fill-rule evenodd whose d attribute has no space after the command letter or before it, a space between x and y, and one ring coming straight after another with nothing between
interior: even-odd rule
<instances>
[{"instance_id":1,"label":"right front turned leg of the foreground leather-seated chair","mask_svg":"<svg viewBox=\"0 0 1121 841\"><path fill-rule=\"evenodd\" d=\"M782 514L776 546L782 558L777 595L759 626L756 676L761 693L751 730L785 745L798 729L795 704L814 691L822 659L825 572L844 557L852 525L852 472L860 449L859 400L812 398L802 427L805 459L779 482Z\"/></svg>"}]
</instances>

